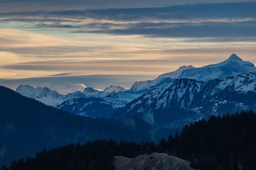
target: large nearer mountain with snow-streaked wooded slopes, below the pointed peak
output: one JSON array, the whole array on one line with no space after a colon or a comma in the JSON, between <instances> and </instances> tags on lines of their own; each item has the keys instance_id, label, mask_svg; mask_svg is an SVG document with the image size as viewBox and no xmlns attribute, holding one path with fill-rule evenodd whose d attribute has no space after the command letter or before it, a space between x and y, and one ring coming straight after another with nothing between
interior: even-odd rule
<instances>
[{"instance_id":1,"label":"large nearer mountain with snow-streaked wooded slopes, below the pointed peak","mask_svg":"<svg viewBox=\"0 0 256 170\"><path fill-rule=\"evenodd\" d=\"M256 110L256 73L224 80L178 78L134 99L116 116L142 118L157 127L180 128L210 115Z\"/></svg>"}]
</instances>

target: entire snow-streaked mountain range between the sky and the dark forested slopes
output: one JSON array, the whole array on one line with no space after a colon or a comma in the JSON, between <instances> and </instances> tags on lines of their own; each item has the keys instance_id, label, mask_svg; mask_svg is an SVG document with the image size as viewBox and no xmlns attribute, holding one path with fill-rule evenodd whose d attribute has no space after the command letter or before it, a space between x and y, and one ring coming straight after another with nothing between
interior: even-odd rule
<instances>
[{"instance_id":1,"label":"entire snow-streaked mountain range between the sky and the dark forested slopes","mask_svg":"<svg viewBox=\"0 0 256 170\"><path fill-rule=\"evenodd\" d=\"M141 118L156 127L180 128L209 115L254 110L255 74L254 64L232 54L218 64L182 66L155 80L135 82L129 90L117 86L102 91L87 87L65 96L27 86L16 91L76 115Z\"/></svg>"}]
</instances>

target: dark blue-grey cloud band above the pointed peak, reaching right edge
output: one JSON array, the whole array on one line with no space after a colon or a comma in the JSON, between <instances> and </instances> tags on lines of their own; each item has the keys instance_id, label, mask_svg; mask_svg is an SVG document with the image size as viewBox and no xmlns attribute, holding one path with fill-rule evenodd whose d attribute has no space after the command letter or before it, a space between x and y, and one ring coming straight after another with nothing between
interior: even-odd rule
<instances>
[{"instance_id":1,"label":"dark blue-grey cloud band above the pointed peak, reaching right edge","mask_svg":"<svg viewBox=\"0 0 256 170\"><path fill-rule=\"evenodd\" d=\"M204 23L204 24L136 24L127 29L113 29L112 34L140 34L172 38L247 38L256 39L256 22ZM217 39L218 40L218 39ZM234 41L234 39L233 39Z\"/></svg>"}]
</instances>

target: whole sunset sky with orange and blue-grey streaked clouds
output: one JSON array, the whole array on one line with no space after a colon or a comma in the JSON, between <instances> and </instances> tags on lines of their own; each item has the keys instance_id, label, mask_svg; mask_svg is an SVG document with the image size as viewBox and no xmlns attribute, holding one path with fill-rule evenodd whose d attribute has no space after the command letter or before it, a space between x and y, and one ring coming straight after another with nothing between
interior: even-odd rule
<instances>
[{"instance_id":1,"label":"whole sunset sky with orange and blue-grey streaked clouds","mask_svg":"<svg viewBox=\"0 0 256 170\"><path fill-rule=\"evenodd\" d=\"M131 87L236 53L256 64L256 1L1 0L0 84Z\"/></svg>"}]
</instances>

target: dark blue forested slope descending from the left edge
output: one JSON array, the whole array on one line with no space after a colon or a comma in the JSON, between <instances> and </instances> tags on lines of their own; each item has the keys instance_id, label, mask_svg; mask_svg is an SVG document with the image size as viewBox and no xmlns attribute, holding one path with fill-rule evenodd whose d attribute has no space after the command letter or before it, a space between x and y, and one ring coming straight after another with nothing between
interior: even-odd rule
<instances>
[{"instance_id":1,"label":"dark blue forested slope descending from the left edge","mask_svg":"<svg viewBox=\"0 0 256 170\"><path fill-rule=\"evenodd\" d=\"M44 148L93 139L151 141L168 131L143 120L106 120L72 115L0 87L0 165Z\"/></svg>"}]
</instances>

